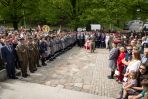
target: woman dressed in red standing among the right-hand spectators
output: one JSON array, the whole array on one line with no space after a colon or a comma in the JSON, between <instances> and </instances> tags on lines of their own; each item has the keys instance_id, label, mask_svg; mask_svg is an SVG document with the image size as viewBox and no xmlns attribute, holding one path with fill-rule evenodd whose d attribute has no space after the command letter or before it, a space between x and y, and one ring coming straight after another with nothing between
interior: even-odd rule
<instances>
[{"instance_id":1,"label":"woman dressed in red standing among the right-hand spectators","mask_svg":"<svg viewBox=\"0 0 148 99\"><path fill-rule=\"evenodd\" d=\"M123 80L123 74L122 73L123 73L123 70L124 70L124 64L122 63L122 60L125 58L125 55L126 55L125 48L121 47L120 48L120 54L119 54L118 59L117 59L117 69L119 71L119 75L116 76L117 81L119 83L121 83L122 80Z\"/></svg>"}]
</instances>

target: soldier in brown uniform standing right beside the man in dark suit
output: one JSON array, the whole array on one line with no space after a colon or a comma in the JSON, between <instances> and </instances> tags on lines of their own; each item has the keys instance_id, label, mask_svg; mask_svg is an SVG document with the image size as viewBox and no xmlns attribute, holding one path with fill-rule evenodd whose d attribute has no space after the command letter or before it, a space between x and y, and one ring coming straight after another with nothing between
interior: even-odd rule
<instances>
[{"instance_id":1,"label":"soldier in brown uniform standing right beside the man in dark suit","mask_svg":"<svg viewBox=\"0 0 148 99\"><path fill-rule=\"evenodd\" d=\"M27 76L29 76L27 74L28 52L24 38L20 39L20 43L16 46L16 52L21 65L22 76L26 78Z\"/></svg>"}]
</instances>

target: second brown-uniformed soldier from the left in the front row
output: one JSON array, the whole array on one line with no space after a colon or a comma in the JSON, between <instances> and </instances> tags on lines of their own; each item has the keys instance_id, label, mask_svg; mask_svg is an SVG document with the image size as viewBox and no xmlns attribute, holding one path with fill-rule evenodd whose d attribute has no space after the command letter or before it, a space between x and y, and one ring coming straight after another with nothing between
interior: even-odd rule
<instances>
[{"instance_id":1,"label":"second brown-uniformed soldier from the left in the front row","mask_svg":"<svg viewBox=\"0 0 148 99\"><path fill-rule=\"evenodd\" d=\"M34 73L37 68L35 66L35 50L34 50L34 45L33 45L33 39L32 37L28 38L29 42L28 42L28 60L29 60L29 70L31 73Z\"/></svg>"}]
</instances>

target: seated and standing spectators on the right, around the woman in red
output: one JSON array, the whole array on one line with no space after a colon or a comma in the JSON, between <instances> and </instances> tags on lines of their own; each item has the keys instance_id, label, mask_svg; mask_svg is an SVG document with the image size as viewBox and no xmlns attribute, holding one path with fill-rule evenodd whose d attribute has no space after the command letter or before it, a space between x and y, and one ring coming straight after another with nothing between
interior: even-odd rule
<instances>
[{"instance_id":1,"label":"seated and standing spectators on the right, around the woman in red","mask_svg":"<svg viewBox=\"0 0 148 99\"><path fill-rule=\"evenodd\" d=\"M109 79L122 84L117 99L142 99L148 92L148 36L117 36L109 54ZM119 39L120 38L120 39ZM148 98L148 97L147 97ZM145 99L147 99L145 98Z\"/></svg>"}]
</instances>

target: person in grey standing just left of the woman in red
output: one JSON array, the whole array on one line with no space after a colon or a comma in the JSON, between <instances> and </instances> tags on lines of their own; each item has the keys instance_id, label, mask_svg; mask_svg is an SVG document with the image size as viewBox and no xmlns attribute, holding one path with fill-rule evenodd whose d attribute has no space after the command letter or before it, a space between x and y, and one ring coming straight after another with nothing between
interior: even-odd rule
<instances>
[{"instance_id":1,"label":"person in grey standing just left of the woman in red","mask_svg":"<svg viewBox=\"0 0 148 99\"><path fill-rule=\"evenodd\" d=\"M109 67L111 68L111 75L108 76L109 79L114 78L115 69L117 67L117 58L119 55L119 49L117 48L117 44L112 43L112 46L113 48L111 49L109 54Z\"/></svg>"}]
</instances>

